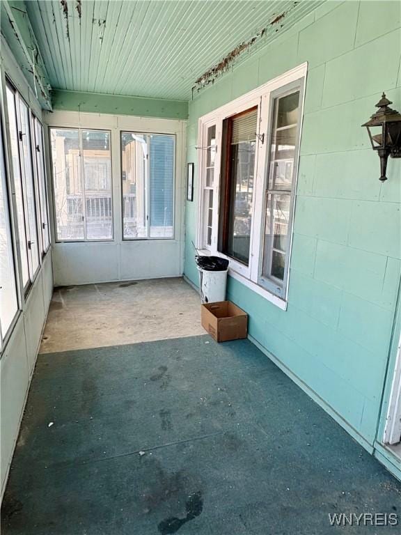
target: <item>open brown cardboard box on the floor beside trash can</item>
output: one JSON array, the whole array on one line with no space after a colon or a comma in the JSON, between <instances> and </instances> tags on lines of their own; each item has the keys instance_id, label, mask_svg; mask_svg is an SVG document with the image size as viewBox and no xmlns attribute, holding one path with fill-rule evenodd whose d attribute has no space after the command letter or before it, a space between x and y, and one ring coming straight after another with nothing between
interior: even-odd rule
<instances>
[{"instance_id":1,"label":"open brown cardboard box on the floor beside trash can","mask_svg":"<svg viewBox=\"0 0 401 535\"><path fill-rule=\"evenodd\" d=\"M202 327L217 342L246 338L248 314L230 301L201 305Z\"/></svg>"}]
</instances>

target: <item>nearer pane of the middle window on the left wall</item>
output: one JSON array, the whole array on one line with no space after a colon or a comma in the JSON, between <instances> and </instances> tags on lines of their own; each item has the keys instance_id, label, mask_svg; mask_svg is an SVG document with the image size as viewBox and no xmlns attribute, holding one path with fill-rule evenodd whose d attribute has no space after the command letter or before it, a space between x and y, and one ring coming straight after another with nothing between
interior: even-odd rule
<instances>
[{"instance_id":1,"label":"nearer pane of the middle window on the left wall","mask_svg":"<svg viewBox=\"0 0 401 535\"><path fill-rule=\"evenodd\" d=\"M18 144L18 128L17 115L15 109L15 95L14 92L7 86L7 108L8 121L10 130L10 148L13 165L13 178L15 189L15 203L17 207L17 225L18 225L18 245L19 254L21 256L22 269L22 284L24 287L29 283L29 269L28 269L28 249L26 247L26 228L24 215L24 198L22 196L22 178L19 167L19 144Z\"/></svg>"}]
</instances>

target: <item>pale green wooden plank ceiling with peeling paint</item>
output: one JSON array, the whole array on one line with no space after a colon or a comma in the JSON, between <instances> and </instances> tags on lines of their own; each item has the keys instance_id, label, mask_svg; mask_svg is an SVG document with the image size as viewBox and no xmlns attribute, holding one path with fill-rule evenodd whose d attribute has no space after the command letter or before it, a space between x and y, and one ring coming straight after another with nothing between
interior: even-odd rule
<instances>
[{"instance_id":1,"label":"pale green wooden plank ceiling with peeling paint","mask_svg":"<svg viewBox=\"0 0 401 535\"><path fill-rule=\"evenodd\" d=\"M239 55L252 54L319 3L31 0L25 8L52 87L189 100L196 79L235 47L259 33Z\"/></svg>"}]
</instances>

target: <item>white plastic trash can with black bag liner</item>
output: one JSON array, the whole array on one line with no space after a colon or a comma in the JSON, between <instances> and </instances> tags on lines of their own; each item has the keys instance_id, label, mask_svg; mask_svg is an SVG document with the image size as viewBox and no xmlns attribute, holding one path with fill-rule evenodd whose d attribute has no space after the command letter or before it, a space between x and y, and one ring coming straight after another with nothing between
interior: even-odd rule
<instances>
[{"instance_id":1,"label":"white plastic trash can with black bag liner","mask_svg":"<svg viewBox=\"0 0 401 535\"><path fill-rule=\"evenodd\" d=\"M216 303L226 300L228 260L219 256L196 256L199 271L201 302Z\"/></svg>"}]
</instances>

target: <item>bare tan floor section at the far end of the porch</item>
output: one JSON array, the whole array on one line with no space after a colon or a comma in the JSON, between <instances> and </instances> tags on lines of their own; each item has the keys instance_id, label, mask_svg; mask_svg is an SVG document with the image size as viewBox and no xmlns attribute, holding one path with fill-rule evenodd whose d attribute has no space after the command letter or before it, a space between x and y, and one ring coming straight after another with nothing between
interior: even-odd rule
<instances>
[{"instance_id":1,"label":"bare tan floor section at the far end of the porch","mask_svg":"<svg viewBox=\"0 0 401 535\"><path fill-rule=\"evenodd\" d=\"M201 299L184 279L55 288L40 353L204 334Z\"/></svg>"}]
</instances>

